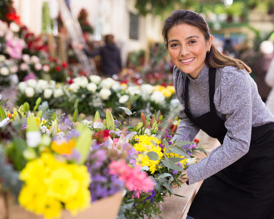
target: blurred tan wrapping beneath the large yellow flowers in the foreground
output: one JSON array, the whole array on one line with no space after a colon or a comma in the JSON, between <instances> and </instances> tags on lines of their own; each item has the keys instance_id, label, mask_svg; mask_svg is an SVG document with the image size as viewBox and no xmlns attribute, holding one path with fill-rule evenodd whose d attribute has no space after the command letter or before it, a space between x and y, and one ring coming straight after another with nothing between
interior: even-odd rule
<instances>
[{"instance_id":1,"label":"blurred tan wrapping beneath the large yellow flowers in the foreground","mask_svg":"<svg viewBox=\"0 0 274 219\"><path fill-rule=\"evenodd\" d=\"M112 196L92 202L88 209L79 212L76 216L72 216L69 211L64 210L60 219L115 219L118 215L122 199L122 191L119 191ZM4 203L2 205L1 203L0 199L0 210L4 205ZM8 197L6 208L7 213L6 216L3 215L3 219L44 219L43 216L26 211L23 207L16 204L12 196Z\"/></svg>"}]
</instances>

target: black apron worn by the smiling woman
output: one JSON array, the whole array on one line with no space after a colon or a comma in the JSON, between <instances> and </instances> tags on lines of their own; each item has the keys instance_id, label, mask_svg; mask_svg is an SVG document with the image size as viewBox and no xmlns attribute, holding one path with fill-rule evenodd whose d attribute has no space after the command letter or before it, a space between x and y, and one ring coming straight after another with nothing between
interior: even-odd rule
<instances>
[{"instance_id":1,"label":"black apron worn by the smiling woman","mask_svg":"<svg viewBox=\"0 0 274 219\"><path fill-rule=\"evenodd\" d=\"M185 83L185 114L222 144L225 121L215 111L216 69L209 68L210 111L193 117ZM249 151L239 160L205 179L189 212L195 219L274 219L274 123L252 127Z\"/></svg>"}]
</instances>

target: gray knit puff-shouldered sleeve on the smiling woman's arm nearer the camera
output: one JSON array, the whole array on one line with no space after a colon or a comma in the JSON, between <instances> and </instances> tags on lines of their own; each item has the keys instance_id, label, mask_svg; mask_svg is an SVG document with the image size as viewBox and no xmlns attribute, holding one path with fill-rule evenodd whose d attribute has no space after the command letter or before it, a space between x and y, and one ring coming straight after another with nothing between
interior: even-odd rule
<instances>
[{"instance_id":1,"label":"gray knit puff-shouldered sleeve on the smiling woman's arm nearer the camera","mask_svg":"<svg viewBox=\"0 0 274 219\"><path fill-rule=\"evenodd\" d=\"M249 150L252 127L252 90L256 84L244 71L228 71L215 90L216 109L226 116L224 143L208 157L187 168L189 184L204 180L240 159ZM214 124L212 124L214 125Z\"/></svg>"}]
</instances>

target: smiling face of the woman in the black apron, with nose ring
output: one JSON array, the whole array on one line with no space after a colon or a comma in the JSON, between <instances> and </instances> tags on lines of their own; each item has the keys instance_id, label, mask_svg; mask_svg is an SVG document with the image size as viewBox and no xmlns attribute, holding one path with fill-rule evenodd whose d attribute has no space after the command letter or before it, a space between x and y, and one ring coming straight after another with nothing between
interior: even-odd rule
<instances>
[{"instance_id":1,"label":"smiling face of the woman in the black apron, with nose ring","mask_svg":"<svg viewBox=\"0 0 274 219\"><path fill-rule=\"evenodd\" d=\"M185 23L173 26L167 37L168 53L173 63L196 79L204 67L206 52L211 47L213 37L205 40L204 34L197 27Z\"/></svg>"}]
</instances>

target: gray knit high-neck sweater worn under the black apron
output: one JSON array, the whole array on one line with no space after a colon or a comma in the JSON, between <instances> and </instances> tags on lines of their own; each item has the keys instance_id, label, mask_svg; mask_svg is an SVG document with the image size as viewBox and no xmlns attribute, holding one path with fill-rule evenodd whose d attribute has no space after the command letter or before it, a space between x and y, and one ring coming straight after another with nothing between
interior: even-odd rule
<instances>
[{"instance_id":1,"label":"gray knit high-neck sweater worn under the black apron","mask_svg":"<svg viewBox=\"0 0 274 219\"><path fill-rule=\"evenodd\" d=\"M193 79L176 66L173 69L176 95L183 108L185 80L189 78L189 110L194 117L210 111L208 72L209 68L204 65L198 78ZM249 150L251 127L274 122L274 116L258 94L255 81L245 70L232 66L216 69L214 104L217 115L225 121L224 143L187 168L189 184L204 180L240 159ZM189 134L188 140L194 140L199 127L186 117L184 110L179 116L182 121L177 133L181 135L174 138L181 140L185 131Z\"/></svg>"}]
</instances>

